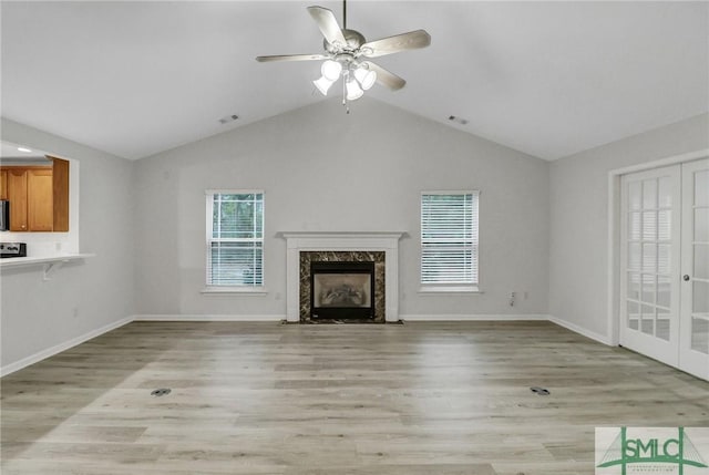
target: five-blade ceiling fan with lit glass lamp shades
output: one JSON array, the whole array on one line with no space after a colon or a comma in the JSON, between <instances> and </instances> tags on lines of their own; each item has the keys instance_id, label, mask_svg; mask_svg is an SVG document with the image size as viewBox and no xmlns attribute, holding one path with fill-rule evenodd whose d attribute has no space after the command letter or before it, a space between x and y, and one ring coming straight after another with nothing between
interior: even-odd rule
<instances>
[{"instance_id":1,"label":"five-blade ceiling fan with lit glass lamp shades","mask_svg":"<svg viewBox=\"0 0 709 475\"><path fill-rule=\"evenodd\" d=\"M347 0L342 8L342 28L340 28L335 13L323 7L308 7L310 17L318 24L325 40L325 51L316 54L285 54L257 56L256 61L319 61L325 60L321 68L322 76L312 83L327 95L328 90L342 76L345 82L345 102L353 101L362 96L374 82L389 87L392 91L400 90L405 81L382 66L369 61L370 58L379 58L407 50L417 50L431 44L431 37L425 30L415 30L380 40L367 41L356 30L347 28Z\"/></svg>"}]
</instances>

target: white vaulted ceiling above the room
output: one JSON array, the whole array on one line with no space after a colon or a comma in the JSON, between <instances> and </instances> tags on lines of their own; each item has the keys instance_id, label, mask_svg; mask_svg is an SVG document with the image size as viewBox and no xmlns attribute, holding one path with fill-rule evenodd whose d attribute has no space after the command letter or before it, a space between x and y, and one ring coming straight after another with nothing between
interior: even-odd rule
<instances>
[{"instance_id":1,"label":"white vaulted ceiling above the room","mask_svg":"<svg viewBox=\"0 0 709 475\"><path fill-rule=\"evenodd\" d=\"M2 115L140 158L321 101L319 62L254 60L320 52L310 4L341 19L321 0L3 1ZM377 60L403 90L360 101L546 159L707 112L708 20L708 2L348 2L368 40L432 37Z\"/></svg>"}]
</instances>

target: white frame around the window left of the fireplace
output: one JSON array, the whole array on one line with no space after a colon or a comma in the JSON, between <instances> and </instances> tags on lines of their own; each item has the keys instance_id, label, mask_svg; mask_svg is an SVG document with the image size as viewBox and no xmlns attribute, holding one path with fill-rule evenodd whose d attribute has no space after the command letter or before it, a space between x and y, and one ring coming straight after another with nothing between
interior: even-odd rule
<instances>
[{"instance_id":1,"label":"white frame around the window left of the fireplace","mask_svg":"<svg viewBox=\"0 0 709 475\"><path fill-rule=\"evenodd\" d=\"M215 240L213 237L214 233L214 196L215 195L261 195L261 203L264 209L261 211L261 238L259 239L261 242L261 283L259 286L251 285L228 285L220 286L209 283L208 281L208 269L209 269L209 260L212 259L212 242ZM228 293L242 293L242 295L253 295L253 296L265 296L268 291L266 289L266 193L263 189L206 189L205 190L205 204L206 204L206 216L205 216L205 268L204 268L204 282L205 287L201 293L212 293L212 295L228 295ZM257 238L256 238L257 239ZM257 239L258 240L258 239Z\"/></svg>"}]
</instances>

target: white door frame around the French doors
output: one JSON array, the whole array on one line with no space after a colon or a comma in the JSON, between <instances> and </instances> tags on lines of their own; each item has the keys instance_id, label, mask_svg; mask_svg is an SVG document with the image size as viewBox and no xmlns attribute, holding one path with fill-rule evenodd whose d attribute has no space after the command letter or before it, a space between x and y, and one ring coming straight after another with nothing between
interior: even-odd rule
<instances>
[{"instance_id":1,"label":"white door frame around the French doors","mask_svg":"<svg viewBox=\"0 0 709 475\"><path fill-rule=\"evenodd\" d=\"M620 176L707 157L709 157L709 148L702 148L608 172L606 344L618 347L620 342L620 217L623 216L623 210L620 209Z\"/></svg>"}]
</instances>

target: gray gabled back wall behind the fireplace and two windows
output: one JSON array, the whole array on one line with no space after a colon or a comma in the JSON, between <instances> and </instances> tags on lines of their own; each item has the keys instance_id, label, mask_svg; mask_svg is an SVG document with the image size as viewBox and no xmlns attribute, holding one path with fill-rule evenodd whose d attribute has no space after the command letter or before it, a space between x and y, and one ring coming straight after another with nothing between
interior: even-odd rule
<instances>
[{"instance_id":1,"label":"gray gabled back wall behind the fireplace and two windows","mask_svg":"<svg viewBox=\"0 0 709 475\"><path fill-rule=\"evenodd\" d=\"M141 159L135 178L138 313L284 317L286 250L275 235L298 230L409 233L403 316L547 313L548 164L372 99L349 115L325 101ZM265 190L267 296L199 292L207 188ZM419 295L420 192L470 188L482 192L484 293Z\"/></svg>"}]
</instances>

